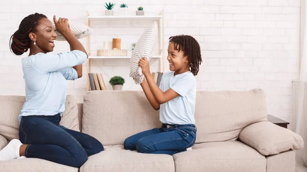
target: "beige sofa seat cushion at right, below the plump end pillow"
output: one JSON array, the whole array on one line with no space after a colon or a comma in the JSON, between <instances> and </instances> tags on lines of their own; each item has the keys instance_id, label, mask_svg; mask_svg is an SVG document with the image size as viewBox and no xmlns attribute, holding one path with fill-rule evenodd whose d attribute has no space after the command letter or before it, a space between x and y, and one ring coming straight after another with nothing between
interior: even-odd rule
<instances>
[{"instance_id":1,"label":"beige sofa seat cushion at right, below the plump end pillow","mask_svg":"<svg viewBox=\"0 0 307 172\"><path fill-rule=\"evenodd\" d=\"M265 172L266 158L239 141L195 144L193 150L174 154L176 172Z\"/></svg>"}]
</instances>

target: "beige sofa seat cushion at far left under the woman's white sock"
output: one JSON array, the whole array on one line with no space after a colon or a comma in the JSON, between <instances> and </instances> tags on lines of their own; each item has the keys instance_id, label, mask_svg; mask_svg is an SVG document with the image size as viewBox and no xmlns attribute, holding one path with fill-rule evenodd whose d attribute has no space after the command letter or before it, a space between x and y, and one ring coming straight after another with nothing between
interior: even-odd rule
<instances>
[{"instance_id":1,"label":"beige sofa seat cushion at far left under the woman's white sock","mask_svg":"<svg viewBox=\"0 0 307 172\"><path fill-rule=\"evenodd\" d=\"M0 161L0 171L10 172L78 172L78 168L37 158Z\"/></svg>"}]
</instances>

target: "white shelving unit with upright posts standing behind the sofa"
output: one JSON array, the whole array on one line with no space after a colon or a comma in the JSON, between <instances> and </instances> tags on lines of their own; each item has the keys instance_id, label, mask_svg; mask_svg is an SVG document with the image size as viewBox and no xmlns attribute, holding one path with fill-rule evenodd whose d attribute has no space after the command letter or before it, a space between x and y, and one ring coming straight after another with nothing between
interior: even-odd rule
<instances>
[{"instance_id":1,"label":"white shelving unit with upright posts standing behind the sofa","mask_svg":"<svg viewBox=\"0 0 307 172\"><path fill-rule=\"evenodd\" d=\"M159 21L159 55L153 56L152 58L159 59L159 71L164 72L164 10L162 10L159 15L143 15L143 16L99 16L99 15L90 15L88 11L86 11L86 24L87 26L91 26L91 20L93 21L119 21L119 20L156 20ZM91 36L86 37L86 51L88 53L91 52ZM87 91L90 90L90 78L89 73L91 73L91 59L130 59L130 56L91 56L89 54L89 59L87 59Z\"/></svg>"}]
</instances>

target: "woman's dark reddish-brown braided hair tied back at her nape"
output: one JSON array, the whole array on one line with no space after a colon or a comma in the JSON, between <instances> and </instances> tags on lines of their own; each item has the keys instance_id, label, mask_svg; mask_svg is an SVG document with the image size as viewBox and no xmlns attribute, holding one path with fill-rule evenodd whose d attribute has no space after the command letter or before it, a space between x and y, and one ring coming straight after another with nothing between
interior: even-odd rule
<instances>
[{"instance_id":1,"label":"woman's dark reddish-brown braided hair tied back at her nape","mask_svg":"<svg viewBox=\"0 0 307 172\"><path fill-rule=\"evenodd\" d=\"M25 17L19 24L18 30L10 38L10 50L15 55L22 55L30 48L30 32L36 32L41 18L46 15L35 13Z\"/></svg>"}]
</instances>

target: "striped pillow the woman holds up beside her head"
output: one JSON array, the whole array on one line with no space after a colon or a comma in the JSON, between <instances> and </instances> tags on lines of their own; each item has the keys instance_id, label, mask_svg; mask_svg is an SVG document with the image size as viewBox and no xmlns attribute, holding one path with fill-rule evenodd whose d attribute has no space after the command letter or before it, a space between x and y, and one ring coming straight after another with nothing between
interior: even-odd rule
<instances>
[{"instance_id":1,"label":"striped pillow the woman holds up beside her head","mask_svg":"<svg viewBox=\"0 0 307 172\"><path fill-rule=\"evenodd\" d=\"M66 39L63 37L63 35L60 34L56 30L56 27L54 25L54 21L52 21L52 23L53 23L53 26L54 26L55 33L57 34L56 40L57 41L66 41ZM84 38L84 37L89 36L93 33L93 30L90 27L88 27L88 26L86 26L85 24L82 24L82 23L69 21L69 26L70 26L70 29L73 31L73 33L74 33L74 35L77 39Z\"/></svg>"}]
</instances>

